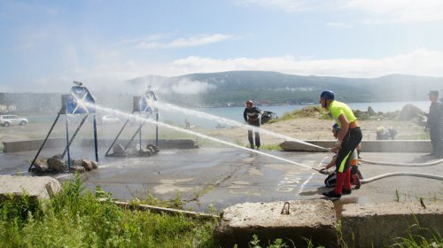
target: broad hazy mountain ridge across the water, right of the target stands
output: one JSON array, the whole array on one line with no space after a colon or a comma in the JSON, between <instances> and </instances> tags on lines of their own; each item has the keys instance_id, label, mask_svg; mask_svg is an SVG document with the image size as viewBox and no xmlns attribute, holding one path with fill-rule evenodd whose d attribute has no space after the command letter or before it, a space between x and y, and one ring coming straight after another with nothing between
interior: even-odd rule
<instances>
[{"instance_id":1,"label":"broad hazy mountain ridge across the water, right of the target stands","mask_svg":"<svg viewBox=\"0 0 443 248\"><path fill-rule=\"evenodd\" d=\"M159 99L185 106L243 106L317 103L324 89L345 102L428 100L429 90L443 89L443 78L392 74L379 78L300 76L262 71L149 75L128 81L134 87L152 86Z\"/></svg>"}]
</instances>

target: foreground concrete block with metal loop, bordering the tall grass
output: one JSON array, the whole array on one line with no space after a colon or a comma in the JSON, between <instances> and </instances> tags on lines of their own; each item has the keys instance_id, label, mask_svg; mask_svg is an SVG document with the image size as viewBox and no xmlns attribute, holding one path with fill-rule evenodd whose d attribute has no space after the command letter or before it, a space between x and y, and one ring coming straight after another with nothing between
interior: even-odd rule
<instances>
[{"instance_id":1,"label":"foreground concrete block with metal loop, bordering the tall grass","mask_svg":"<svg viewBox=\"0 0 443 248\"><path fill-rule=\"evenodd\" d=\"M253 235L265 245L282 238L295 247L307 246L308 240L334 247L338 245L335 224L334 207L327 200L243 203L223 211L215 236L223 247L248 247Z\"/></svg>"}]
</instances>

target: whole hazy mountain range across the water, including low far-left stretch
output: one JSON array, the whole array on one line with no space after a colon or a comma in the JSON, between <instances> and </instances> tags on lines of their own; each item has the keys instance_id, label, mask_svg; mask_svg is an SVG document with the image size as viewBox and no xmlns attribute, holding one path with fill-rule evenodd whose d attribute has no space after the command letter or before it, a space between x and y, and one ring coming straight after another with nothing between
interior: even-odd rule
<instances>
[{"instance_id":1,"label":"whole hazy mountain range across the water, including low far-left stretch","mask_svg":"<svg viewBox=\"0 0 443 248\"><path fill-rule=\"evenodd\" d=\"M392 74L365 79L235 71L177 77L149 75L126 82L124 89L135 90L131 94L124 89L92 94L97 105L130 112L134 97L140 97L149 86L159 100L185 107L244 106L248 99L257 105L304 105L317 104L325 89L333 90L337 99L346 103L427 101L430 90L443 89L443 78ZM55 113L61 107L61 95L0 92L0 113Z\"/></svg>"}]
</instances>

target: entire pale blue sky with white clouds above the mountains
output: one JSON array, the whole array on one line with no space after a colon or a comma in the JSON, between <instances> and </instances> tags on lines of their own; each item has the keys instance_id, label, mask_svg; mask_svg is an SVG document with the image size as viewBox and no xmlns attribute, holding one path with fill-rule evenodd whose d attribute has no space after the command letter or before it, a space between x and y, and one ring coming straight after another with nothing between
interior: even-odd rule
<instances>
[{"instance_id":1,"label":"entire pale blue sky with white clouds above the mountains","mask_svg":"<svg viewBox=\"0 0 443 248\"><path fill-rule=\"evenodd\" d=\"M441 0L0 0L0 92L233 70L443 76Z\"/></svg>"}]
</instances>

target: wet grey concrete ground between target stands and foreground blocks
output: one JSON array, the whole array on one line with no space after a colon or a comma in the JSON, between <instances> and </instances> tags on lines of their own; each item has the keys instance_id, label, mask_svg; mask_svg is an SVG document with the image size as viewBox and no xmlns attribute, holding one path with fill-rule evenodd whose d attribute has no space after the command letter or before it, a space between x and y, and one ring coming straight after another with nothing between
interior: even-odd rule
<instances>
[{"instance_id":1,"label":"wet grey concrete ground between target stands and foreground blocks","mask_svg":"<svg viewBox=\"0 0 443 248\"><path fill-rule=\"evenodd\" d=\"M263 151L283 159L320 168L330 160L330 153ZM0 174L27 171L36 151L0 153ZM43 151L52 156L56 151ZM71 152L74 159L94 159L91 150ZM76 154L82 155L78 158ZM269 202L293 199L323 198L326 175L279 159L234 148L200 148L162 150L149 158L105 158L99 151L99 168L84 174L90 190L96 185L112 192L113 198L130 200L152 194L160 199L181 198L186 207L206 211L212 205L217 211L237 203ZM421 163L433 160L423 153L361 154L363 159L395 163ZM76 158L77 157L77 158ZM362 164L363 177L392 172L416 172L443 175L443 164L431 167L390 167ZM70 175L57 175L65 180ZM343 203L377 203L435 201L443 198L443 181L410 177L388 177L363 184L360 190L343 196Z\"/></svg>"}]
</instances>

